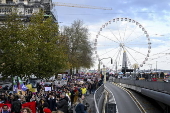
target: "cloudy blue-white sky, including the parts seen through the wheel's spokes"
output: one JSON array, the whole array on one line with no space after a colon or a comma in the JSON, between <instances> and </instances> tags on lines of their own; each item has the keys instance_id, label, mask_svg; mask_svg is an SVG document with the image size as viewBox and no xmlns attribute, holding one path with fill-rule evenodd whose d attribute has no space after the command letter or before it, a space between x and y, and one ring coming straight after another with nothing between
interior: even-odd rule
<instances>
[{"instance_id":1,"label":"cloudy blue-white sky, including the parts seen through the wheel's spokes","mask_svg":"<svg viewBox=\"0 0 170 113\"><path fill-rule=\"evenodd\" d=\"M134 64L137 64L141 70L170 70L169 0L53 0L53 3L56 2L88 5L88 8L55 6L53 13L60 28L71 26L75 20L82 20L84 26L89 29L89 40L93 45L97 43L94 46L96 50L93 56L96 62L92 69L98 69L100 60L101 67L105 65L115 70L117 66L119 70L122 67L122 55L125 51L129 59L128 68L134 68ZM104 8L112 10L103 10ZM116 18L120 20L123 18L123 21L113 22ZM135 23L125 21L125 18L132 19ZM103 28L103 25L106 26ZM139 25L142 27L140 28ZM144 31L149 37L146 37ZM110 63L110 57L113 64Z\"/></svg>"}]
</instances>

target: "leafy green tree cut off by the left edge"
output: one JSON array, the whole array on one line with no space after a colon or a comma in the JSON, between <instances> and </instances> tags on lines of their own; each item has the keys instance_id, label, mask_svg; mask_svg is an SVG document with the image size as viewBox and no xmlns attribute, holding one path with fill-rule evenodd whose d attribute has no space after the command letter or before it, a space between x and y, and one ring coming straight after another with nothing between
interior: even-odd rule
<instances>
[{"instance_id":1,"label":"leafy green tree cut off by the left edge","mask_svg":"<svg viewBox=\"0 0 170 113\"><path fill-rule=\"evenodd\" d=\"M25 54L23 44L24 26L16 13L6 16L6 21L0 27L0 71L3 76L24 74L22 70L22 55Z\"/></svg>"}]
</instances>

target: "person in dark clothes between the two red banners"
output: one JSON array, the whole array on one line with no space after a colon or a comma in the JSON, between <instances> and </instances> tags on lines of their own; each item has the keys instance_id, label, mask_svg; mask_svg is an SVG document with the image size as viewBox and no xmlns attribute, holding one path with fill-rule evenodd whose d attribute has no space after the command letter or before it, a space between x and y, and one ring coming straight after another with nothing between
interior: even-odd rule
<instances>
[{"instance_id":1,"label":"person in dark clothes between the two red banners","mask_svg":"<svg viewBox=\"0 0 170 113\"><path fill-rule=\"evenodd\" d=\"M12 113L20 113L21 111L21 102L19 100L19 96L16 95L14 98L14 102L12 103L12 108L11 108L11 112Z\"/></svg>"}]
</instances>

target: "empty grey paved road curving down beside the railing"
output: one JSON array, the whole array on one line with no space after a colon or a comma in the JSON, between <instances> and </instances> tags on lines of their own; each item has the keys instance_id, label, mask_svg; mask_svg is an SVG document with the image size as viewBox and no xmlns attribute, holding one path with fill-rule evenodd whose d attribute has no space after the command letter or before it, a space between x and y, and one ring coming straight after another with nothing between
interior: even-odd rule
<instances>
[{"instance_id":1,"label":"empty grey paved road curving down beside the railing","mask_svg":"<svg viewBox=\"0 0 170 113\"><path fill-rule=\"evenodd\" d=\"M108 82L106 87L113 93L119 113L141 113L135 102L124 90Z\"/></svg>"}]
</instances>

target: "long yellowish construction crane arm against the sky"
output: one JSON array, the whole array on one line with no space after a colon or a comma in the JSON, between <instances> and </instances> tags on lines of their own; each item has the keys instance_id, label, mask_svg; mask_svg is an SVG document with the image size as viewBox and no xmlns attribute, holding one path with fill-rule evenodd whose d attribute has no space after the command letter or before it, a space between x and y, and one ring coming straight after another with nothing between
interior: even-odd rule
<instances>
[{"instance_id":1,"label":"long yellowish construction crane arm against the sky","mask_svg":"<svg viewBox=\"0 0 170 113\"><path fill-rule=\"evenodd\" d=\"M112 10L112 8L96 7L96 6L80 5L80 4L71 4L71 3L61 3L61 2L54 2L53 6L66 6L66 7L77 7L77 8Z\"/></svg>"}]
</instances>

